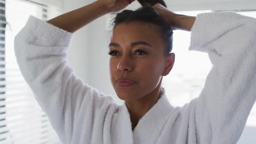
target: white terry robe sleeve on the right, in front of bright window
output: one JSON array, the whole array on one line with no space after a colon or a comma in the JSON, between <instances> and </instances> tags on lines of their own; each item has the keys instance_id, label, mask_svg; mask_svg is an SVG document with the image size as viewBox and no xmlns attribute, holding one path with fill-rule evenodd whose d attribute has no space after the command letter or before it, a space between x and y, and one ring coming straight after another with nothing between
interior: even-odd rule
<instances>
[{"instance_id":1,"label":"white terry robe sleeve on the right, in front of bright window","mask_svg":"<svg viewBox=\"0 0 256 144\"><path fill-rule=\"evenodd\" d=\"M190 107L196 141L235 144L256 101L256 19L235 12L198 14L189 50L207 52L213 65Z\"/></svg>"}]
</instances>

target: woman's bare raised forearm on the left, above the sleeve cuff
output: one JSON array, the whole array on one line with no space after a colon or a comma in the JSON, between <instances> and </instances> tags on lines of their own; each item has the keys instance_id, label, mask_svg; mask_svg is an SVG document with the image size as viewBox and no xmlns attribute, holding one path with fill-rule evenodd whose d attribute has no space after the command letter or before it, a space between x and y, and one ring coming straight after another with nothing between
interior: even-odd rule
<instances>
[{"instance_id":1,"label":"woman's bare raised forearm on the left, above the sleeve cuff","mask_svg":"<svg viewBox=\"0 0 256 144\"><path fill-rule=\"evenodd\" d=\"M74 33L76 30L82 28L98 17L103 16L106 13L122 10L127 7L128 4L128 0L97 0L85 7L64 13L47 22L69 31L70 33Z\"/></svg>"}]
</instances>

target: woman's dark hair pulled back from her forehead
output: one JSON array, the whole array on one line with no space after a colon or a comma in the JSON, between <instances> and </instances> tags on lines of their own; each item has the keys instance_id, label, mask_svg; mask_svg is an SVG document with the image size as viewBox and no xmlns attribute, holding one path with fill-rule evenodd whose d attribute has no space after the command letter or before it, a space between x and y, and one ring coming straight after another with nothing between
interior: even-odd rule
<instances>
[{"instance_id":1,"label":"woman's dark hair pulled back from her forehead","mask_svg":"<svg viewBox=\"0 0 256 144\"><path fill-rule=\"evenodd\" d=\"M161 38L165 43L164 53L170 54L173 46L173 31L171 26L164 20L164 18L150 5L145 4L143 7L138 10L123 10L121 13L118 13L113 19L113 29L120 23L129 23L129 22L146 22L151 23L159 27Z\"/></svg>"}]
</instances>

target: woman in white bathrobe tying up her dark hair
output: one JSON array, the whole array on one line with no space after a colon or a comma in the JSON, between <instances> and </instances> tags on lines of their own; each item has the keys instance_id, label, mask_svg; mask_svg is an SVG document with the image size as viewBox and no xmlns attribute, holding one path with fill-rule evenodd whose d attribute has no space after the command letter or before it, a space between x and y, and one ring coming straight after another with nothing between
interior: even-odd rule
<instances>
[{"instance_id":1,"label":"woman in white bathrobe tying up her dark hair","mask_svg":"<svg viewBox=\"0 0 256 144\"><path fill-rule=\"evenodd\" d=\"M118 105L73 74L66 50L76 30L128 4L98 0L47 23L30 16L15 37L20 70L62 143L236 143L256 100L256 20L233 12L184 16L160 3L119 13L109 44L112 85L125 100ZM141 20L148 13L155 23ZM189 50L207 52L213 64L200 96L183 107L173 107L161 87L174 65L171 28L191 30Z\"/></svg>"}]
</instances>

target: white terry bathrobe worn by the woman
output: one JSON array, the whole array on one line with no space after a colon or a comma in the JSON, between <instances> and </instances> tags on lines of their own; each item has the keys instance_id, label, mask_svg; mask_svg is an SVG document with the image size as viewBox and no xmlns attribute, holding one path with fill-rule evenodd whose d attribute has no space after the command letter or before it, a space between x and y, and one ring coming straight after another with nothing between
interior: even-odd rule
<instances>
[{"instance_id":1,"label":"white terry bathrobe worn by the woman","mask_svg":"<svg viewBox=\"0 0 256 144\"><path fill-rule=\"evenodd\" d=\"M213 64L202 92L183 107L172 106L164 93L134 131L125 103L85 84L66 64L73 36L30 16L14 42L24 79L63 144L239 140L256 101L256 19L233 12L198 14L189 50L207 52Z\"/></svg>"}]
</instances>

